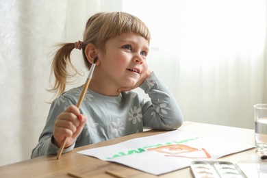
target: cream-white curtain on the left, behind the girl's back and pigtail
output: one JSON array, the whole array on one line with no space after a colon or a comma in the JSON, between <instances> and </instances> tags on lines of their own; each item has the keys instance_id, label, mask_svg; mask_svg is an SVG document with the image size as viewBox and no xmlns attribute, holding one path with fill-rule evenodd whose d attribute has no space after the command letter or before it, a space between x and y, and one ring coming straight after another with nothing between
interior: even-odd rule
<instances>
[{"instance_id":1,"label":"cream-white curtain on the left, behind the girl's back and pigtail","mask_svg":"<svg viewBox=\"0 0 267 178\"><path fill-rule=\"evenodd\" d=\"M120 1L0 1L0 166L29 159L38 142L53 97L53 45L81 40L88 18L109 8L121 10Z\"/></svg>"}]
</instances>

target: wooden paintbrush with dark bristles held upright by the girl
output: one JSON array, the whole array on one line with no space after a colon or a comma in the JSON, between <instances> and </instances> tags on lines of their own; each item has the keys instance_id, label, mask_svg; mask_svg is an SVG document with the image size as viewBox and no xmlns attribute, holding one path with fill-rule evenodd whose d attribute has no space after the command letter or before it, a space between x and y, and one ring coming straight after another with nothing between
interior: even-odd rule
<instances>
[{"instance_id":1,"label":"wooden paintbrush with dark bristles held upright by the girl","mask_svg":"<svg viewBox=\"0 0 267 178\"><path fill-rule=\"evenodd\" d=\"M94 61L92 62L92 66L90 68L88 77L86 79L86 83L84 84L83 90L81 91L81 95L79 97L79 101L78 101L78 103L76 105L78 107L78 109L79 109L79 107L81 107L81 103L84 100L84 96L86 95L86 91L87 91L88 86L90 84L90 80L92 78L92 73L94 72L94 67L95 67L95 64L97 63L97 60L98 60L98 57L95 57ZM60 157L62 155L62 151L64 150L64 147L65 147L65 144L66 144L67 140L68 140L67 137L63 140L63 143L60 146L60 150L58 151L57 160L60 159Z\"/></svg>"}]
</instances>

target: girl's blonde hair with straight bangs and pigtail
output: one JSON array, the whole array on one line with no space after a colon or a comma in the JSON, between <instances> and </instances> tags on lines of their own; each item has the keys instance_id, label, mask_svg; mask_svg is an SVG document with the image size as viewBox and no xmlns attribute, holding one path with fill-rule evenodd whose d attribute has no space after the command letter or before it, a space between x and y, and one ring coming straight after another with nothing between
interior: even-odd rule
<instances>
[{"instance_id":1,"label":"girl's blonde hair with straight bangs and pigtail","mask_svg":"<svg viewBox=\"0 0 267 178\"><path fill-rule=\"evenodd\" d=\"M91 16L86 23L81 46L86 68L89 70L91 66L84 52L87 44L92 43L95 47L105 50L105 42L108 39L130 32L140 34L150 42L149 29L136 16L125 12L99 12ZM75 48L75 44L73 42L62 43L58 44L58 47L51 66L51 74L55 75L55 83L50 91L58 92L59 97L66 89L67 79L73 77L68 68L73 68L75 75L77 71L71 63L71 51Z\"/></svg>"}]
</instances>

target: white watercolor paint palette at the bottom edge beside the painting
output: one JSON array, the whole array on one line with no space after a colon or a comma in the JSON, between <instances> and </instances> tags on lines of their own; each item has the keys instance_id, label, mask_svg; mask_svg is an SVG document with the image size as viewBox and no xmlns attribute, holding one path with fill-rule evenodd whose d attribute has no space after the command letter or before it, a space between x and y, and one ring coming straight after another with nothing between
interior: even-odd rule
<instances>
[{"instance_id":1,"label":"white watercolor paint palette at the bottom edge beside the painting","mask_svg":"<svg viewBox=\"0 0 267 178\"><path fill-rule=\"evenodd\" d=\"M194 161L190 168L195 178L243 178L242 170L231 162Z\"/></svg>"}]
</instances>

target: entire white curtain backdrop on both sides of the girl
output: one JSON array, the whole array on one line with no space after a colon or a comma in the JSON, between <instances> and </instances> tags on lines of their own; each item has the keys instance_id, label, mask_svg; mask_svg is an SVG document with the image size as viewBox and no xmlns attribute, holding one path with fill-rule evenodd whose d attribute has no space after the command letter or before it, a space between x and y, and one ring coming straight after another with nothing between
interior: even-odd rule
<instances>
[{"instance_id":1,"label":"entire white curtain backdrop on both sides of the girl","mask_svg":"<svg viewBox=\"0 0 267 178\"><path fill-rule=\"evenodd\" d=\"M53 97L53 44L82 40L99 11L129 12L148 25L149 66L185 120L253 129L253 104L267 103L265 0L2 0L0 166L29 159L38 142ZM84 71L80 51L73 59ZM77 77L74 86L83 83Z\"/></svg>"}]
</instances>

